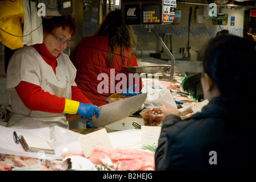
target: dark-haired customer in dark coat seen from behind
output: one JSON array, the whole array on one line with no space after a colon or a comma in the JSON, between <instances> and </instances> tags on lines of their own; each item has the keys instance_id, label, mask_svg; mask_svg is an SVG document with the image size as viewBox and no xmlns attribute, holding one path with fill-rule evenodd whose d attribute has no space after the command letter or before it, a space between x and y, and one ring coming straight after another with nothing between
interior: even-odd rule
<instances>
[{"instance_id":1,"label":"dark-haired customer in dark coat seen from behind","mask_svg":"<svg viewBox=\"0 0 256 182\"><path fill-rule=\"evenodd\" d=\"M201 83L209 100L201 113L182 120L163 106L155 170L255 170L255 47L233 35L211 39Z\"/></svg>"}]
</instances>

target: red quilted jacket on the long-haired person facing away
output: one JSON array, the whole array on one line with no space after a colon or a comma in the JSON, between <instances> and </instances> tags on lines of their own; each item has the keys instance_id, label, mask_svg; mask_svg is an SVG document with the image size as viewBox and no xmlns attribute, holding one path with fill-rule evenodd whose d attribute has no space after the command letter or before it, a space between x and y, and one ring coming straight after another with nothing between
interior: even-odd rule
<instances>
[{"instance_id":1,"label":"red quilted jacket on the long-haired person facing away","mask_svg":"<svg viewBox=\"0 0 256 182\"><path fill-rule=\"evenodd\" d=\"M114 58L113 67L108 68L107 54L109 50L108 36L87 36L82 38L81 42L70 54L70 60L77 68L75 82L77 82L78 88L82 90L83 94L96 106L107 104L106 98L113 93L119 93L119 88L123 91L128 86L134 84L137 85L135 92L139 92L142 88L141 78L134 78L134 80L130 78L133 82L129 81L129 73L122 68L138 67L137 59L133 55L133 52L130 51L130 63L128 53L125 51L125 64L123 64L119 50ZM111 75L110 69L112 72L114 71ZM118 73L124 73L127 80L118 80L119 78L116 77ZM99 74L105 77L98 78ZM111 82L110 78L112 80ZM120 83L118 84L118 82ZM123 84L123 82L127 85ZM98 86L99 84L103 84L103 86ZM125 85L124 88L120 86L121 84L123 86Z\"/></svg>"}]
</instances>

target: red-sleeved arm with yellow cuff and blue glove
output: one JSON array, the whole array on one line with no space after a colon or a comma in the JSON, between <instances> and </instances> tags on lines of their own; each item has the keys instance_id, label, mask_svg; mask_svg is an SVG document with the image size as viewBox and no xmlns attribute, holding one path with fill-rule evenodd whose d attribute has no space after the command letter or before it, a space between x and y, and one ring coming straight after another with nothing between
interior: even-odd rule
<instances>
[{"instance_id":1,"label":"red-sleeved arm with yellow cuff and blue glove","mask_svg":"<svg viewBox=\"0 0 256 182\"><path fill-rule=\"evenodd\" d=\"M15 87L23 104L30 110L38 110L49 113L80 114L82 119L99 117L99 110L92 104L83 104L78 101L68 100L65 97L57 97L42 90L41 86L21 81ZM85 99L85 98L83 98Z\"/></svg>"}]
</instances>

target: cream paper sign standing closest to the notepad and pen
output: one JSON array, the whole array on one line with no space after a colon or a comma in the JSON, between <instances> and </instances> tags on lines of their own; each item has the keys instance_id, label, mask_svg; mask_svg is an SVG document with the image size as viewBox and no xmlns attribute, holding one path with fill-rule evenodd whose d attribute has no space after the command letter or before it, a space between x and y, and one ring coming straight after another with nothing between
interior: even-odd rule
<instances>
[{"instance_id":1,"label":"cream paper sign standing closest to the notepad and pen","mask_svg":"<svg viewBox=\"0 0 256 182\"><path fill-rule=\"evenodd\" d=\"M93 133L83 135L82 137L79 137L78 140L86 158L90 157L91 151L95 146L102 146L109 149L113 148L106 129L101 129L94 131Z\"/></svg>"}]
</instances>

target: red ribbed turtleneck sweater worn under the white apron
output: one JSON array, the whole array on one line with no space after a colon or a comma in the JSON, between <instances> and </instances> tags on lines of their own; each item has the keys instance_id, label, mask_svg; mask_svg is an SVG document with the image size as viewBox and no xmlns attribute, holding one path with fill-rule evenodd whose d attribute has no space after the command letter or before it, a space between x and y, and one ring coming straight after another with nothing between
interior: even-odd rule
<instances>
[{"instance_id":1,"label":"red ribbed turtleneck sweater worn under the white apron","mask_svg":"<svg viewBox=\"0 0 256 182\"><path fill-rule=\"evenodd\" d=\"M57 67L57 57L51 55L51 53L46 48L45 44L35 44L33 46L37 52L42 56L43 60L46 61L56 74L55 68ZM41 86L31 84L29 82L21 81L18 86L15 87L19 97L27 108L30 110L45 111L48 113L63 113L65 107L65 97L57 97L42 90ZM72 100L90 103L83 95L77 86L71 86Z\"/></svg>"}]
</instances>

